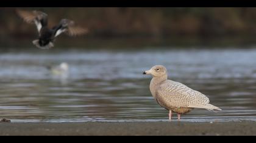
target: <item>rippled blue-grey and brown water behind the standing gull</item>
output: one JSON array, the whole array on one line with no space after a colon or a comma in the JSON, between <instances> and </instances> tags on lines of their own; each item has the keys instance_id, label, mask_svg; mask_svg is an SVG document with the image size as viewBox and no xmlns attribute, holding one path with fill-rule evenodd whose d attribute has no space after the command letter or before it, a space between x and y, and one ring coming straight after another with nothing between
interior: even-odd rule
<instances>
[{"instance_id":1,"label":"rippled blue-grey and brown water behind the standing gull","mask_svg":"<svg viewBox=\"0 0 256 143\"><path fill-rule=\"evenodd\" d=\"M155 64L223 111L182 121L256 121L256 49L69 50L0 53L0 118L12 122L167 121L149 91ZM69 76L46 65L68 62ZM174 115L174 120L177 117Z\"/></svg>"}]
</instances>

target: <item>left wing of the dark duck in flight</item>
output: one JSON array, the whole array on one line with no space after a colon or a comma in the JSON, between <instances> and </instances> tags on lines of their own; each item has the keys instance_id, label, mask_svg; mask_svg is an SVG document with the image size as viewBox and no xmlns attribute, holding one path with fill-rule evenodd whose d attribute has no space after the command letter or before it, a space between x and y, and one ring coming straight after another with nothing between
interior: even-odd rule
<instances>
[{"instance_id":1,"label":"left wing of the dark duck in flight","mask_svg":"<svg viewBox=\"0 0 256 143\"><path fill-rule=\"evenodd\" d=\"M48 24L48 15L46 13L34 10L32 12L24 10L16 10L18 15L27 23L35 24L37 26L38 33L42 27L47 26Z\"/></svg>"}]
</instances>

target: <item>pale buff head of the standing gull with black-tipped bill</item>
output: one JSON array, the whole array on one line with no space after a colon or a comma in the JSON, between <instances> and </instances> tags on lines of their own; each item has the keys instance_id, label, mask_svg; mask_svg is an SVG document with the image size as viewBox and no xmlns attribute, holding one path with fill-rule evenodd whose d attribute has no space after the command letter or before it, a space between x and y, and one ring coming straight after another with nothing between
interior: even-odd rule
<instances>
[{"instance_id":1,"label":"pale buff head of the standing gull with black-tipped bill","mask_svg":"<svg viewBox=\"0 0 256 143\"><path fill-rule=\"evenodd\" d=\"M167 75L167 70L163 65L155 65L150 70L144 71L144 75L152 75L153 77L161 77Z\"/></svg>"}]
</instances>

